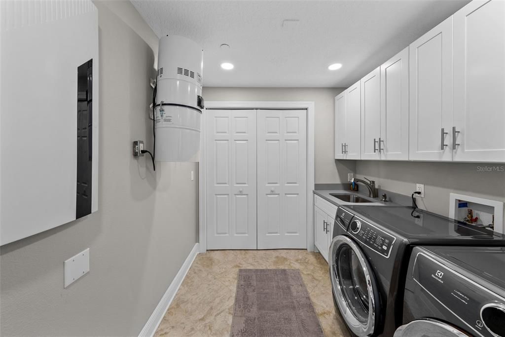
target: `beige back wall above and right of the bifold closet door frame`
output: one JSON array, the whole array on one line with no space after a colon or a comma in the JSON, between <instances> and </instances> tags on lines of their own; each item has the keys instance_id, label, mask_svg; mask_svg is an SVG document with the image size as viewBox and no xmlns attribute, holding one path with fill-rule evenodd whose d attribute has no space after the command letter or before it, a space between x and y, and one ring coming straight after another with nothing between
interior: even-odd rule
<instances>
[{"instance_id":1,"label":"beige back wall above and right of the bifold closet door frame","mask_svg":"<svg viewBox=\"0 0 505 337\"><path fill-rule=\"evenodd\" d=\"M344 88L228 88L205 87L206 101L315 102L315 181L340 183L355 171L354 161L335 161L333 99Z\"/></svg>"}]
</instances>

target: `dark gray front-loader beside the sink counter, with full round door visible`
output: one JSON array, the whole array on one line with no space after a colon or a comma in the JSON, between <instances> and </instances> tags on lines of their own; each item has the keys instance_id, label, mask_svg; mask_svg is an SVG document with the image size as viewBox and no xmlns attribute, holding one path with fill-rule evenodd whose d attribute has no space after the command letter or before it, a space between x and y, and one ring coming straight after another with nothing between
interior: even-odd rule
<instances>
[{"instance_id":1,"label":"dark gray front-loader beside the sink counter, with full round door visible","mask_svg":"<svg viewBox=\"0 0 505 337\"><path fill-rule=\"evenodd\" d=\"M502 234L404 206L341 206L333 228L333 299L348 330L358 336L392 336L402 324L413 247L505 246Z\"/></svg>"}]
</instances>

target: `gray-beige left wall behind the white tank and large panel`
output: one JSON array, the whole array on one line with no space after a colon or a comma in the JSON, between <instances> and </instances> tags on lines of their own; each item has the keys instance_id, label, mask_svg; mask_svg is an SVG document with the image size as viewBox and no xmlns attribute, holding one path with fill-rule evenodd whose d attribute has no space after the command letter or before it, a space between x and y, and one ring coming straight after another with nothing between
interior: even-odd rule
<instances>
[{"instance_id":1,"label":"gray-beige left wall behind the white tank and large panel","mask_svg":"<svg viewBox=\"0 0 505 337\"><path fill-rule=\"evenodd\" d=\"M131 155L134 139L152 147L157 38L129 2L96 6L98 212L0 249L4 336L137 335L197 240L197 164L158 163L154 175L149 157ZM64 289L63 261L88 247L89 274Z\"/></svg>"}]
</instances>

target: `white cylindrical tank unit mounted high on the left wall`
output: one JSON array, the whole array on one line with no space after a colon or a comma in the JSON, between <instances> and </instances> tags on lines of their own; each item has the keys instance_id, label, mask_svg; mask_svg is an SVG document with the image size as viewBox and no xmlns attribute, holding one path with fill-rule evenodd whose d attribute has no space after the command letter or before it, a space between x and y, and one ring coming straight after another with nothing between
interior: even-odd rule
<instances>
[{"instance_id":1,"label":"white cylindrical tank unit mounted high on the left wall","mask_svg":"<svg viewBox=\"0 0 505 337\"><path fill-rule=\"evenodd\" d=\"M160 39L156 88L157 161L199 160L203 51L182 36Z\"/></svg>"}]
</instances>

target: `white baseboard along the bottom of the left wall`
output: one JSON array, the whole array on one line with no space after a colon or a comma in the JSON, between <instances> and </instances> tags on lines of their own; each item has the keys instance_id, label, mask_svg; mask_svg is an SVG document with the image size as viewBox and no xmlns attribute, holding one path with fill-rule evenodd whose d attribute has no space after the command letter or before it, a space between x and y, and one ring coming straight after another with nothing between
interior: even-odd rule
<instances>
[{"instance_id":1,"label":"white baseboard along the bottom of the left wall","mask_svg":"<svg viewBox=\"0 0 505 337\"><path fill-rule=\"evenodd\" d=\"M165 316L165 312L170 306L170 303L172 303L175 294L177 294L177 291L179 290L179 287L181 286L184 277L186 277L186 274L189 268L191 267L191 264L193 263L194 258L196 257L197 254L198 254L198 243L194 245L193 249L186 258L186 261L184 261L184 263L182 264L181 269L179 269L177 275L175 275L174 277L174 280L168 286L168 289L161 298L160 303L158 303L158 305L155 308L155 311L153 311L153 314L151 314L151 317L149 317L147 323L145 323L144 327L142 328L142 331L140 331L140 333L138 334L139 337L154 336L156 329L158 329L158 326L160 325L163 317Z\"/></svg>"}]
</instances>

